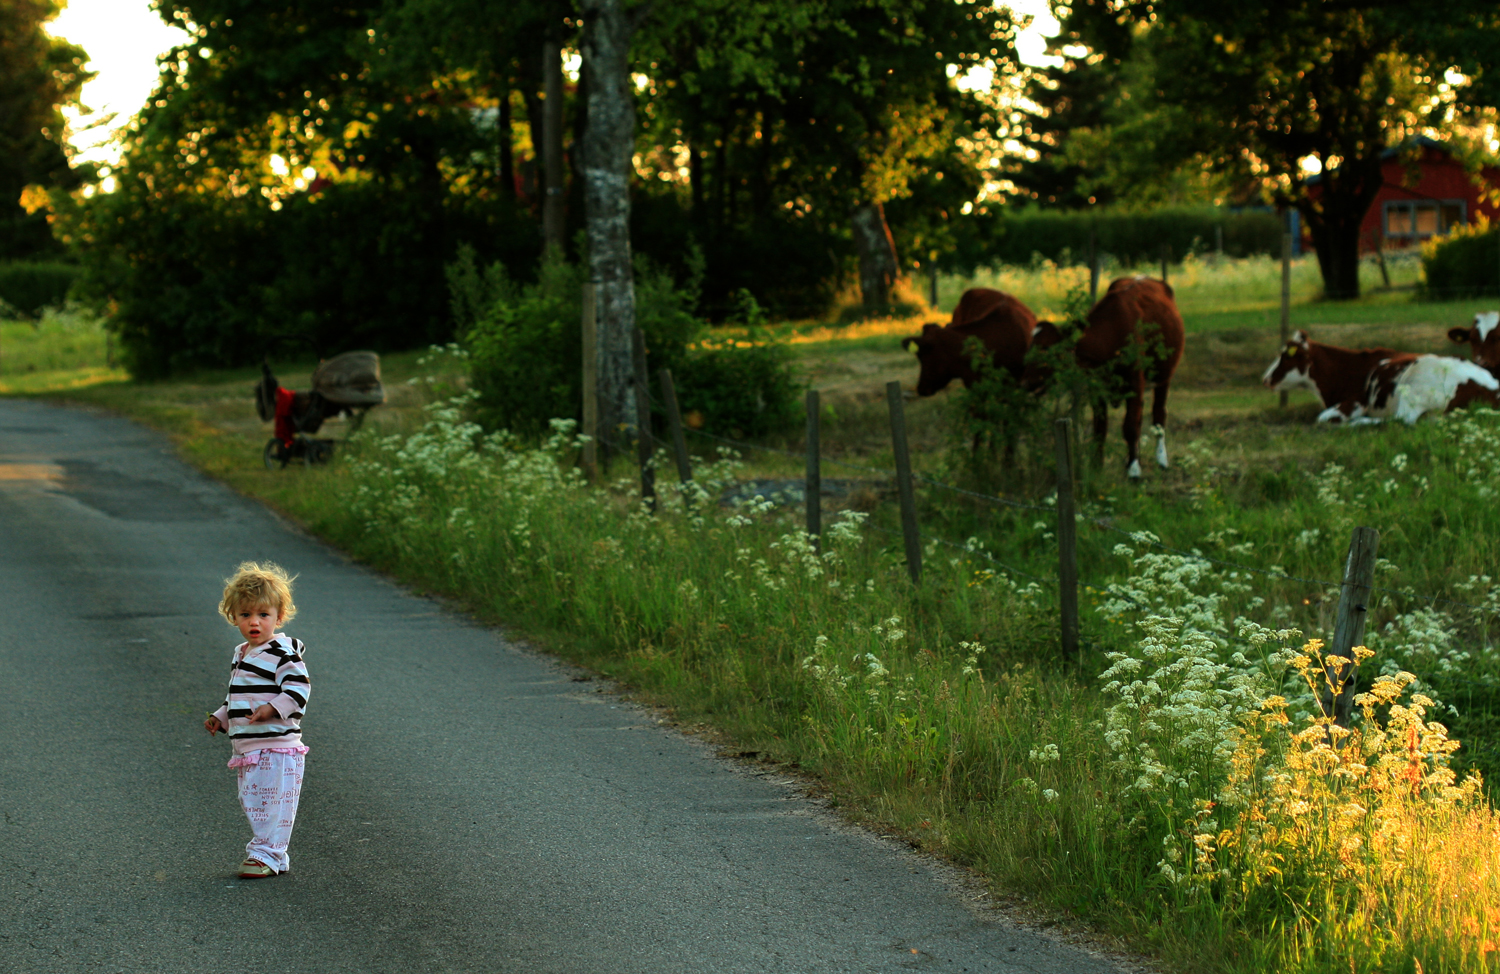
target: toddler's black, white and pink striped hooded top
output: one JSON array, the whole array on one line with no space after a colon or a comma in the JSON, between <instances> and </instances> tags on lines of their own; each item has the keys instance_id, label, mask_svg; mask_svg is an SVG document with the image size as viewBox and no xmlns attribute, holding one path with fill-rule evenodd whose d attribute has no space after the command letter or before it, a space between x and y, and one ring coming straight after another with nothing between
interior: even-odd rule
<instances>
[{"instance_id":1,"label":"toddler's black, white and pink striped hooded top","mask_svg":"<svg viewBox=\"0 0 1500 974\"><path fill-rule=\"evenodd\" d=\"M308 665L302 662L303 648L302 639L284 633L254 648L244 642L234 647L230 690L213 714L230 728L234 753L302 746L302 713L312 692ZM261 704L270 704L278 716L250 723L250 714Z\"/></svg>"}]
</instances>

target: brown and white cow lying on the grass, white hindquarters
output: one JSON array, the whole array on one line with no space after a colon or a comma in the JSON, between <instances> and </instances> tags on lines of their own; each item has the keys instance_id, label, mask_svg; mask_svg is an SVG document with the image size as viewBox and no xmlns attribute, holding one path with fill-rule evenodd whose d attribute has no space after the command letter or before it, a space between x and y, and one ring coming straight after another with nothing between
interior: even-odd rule
<instances>
[{"instance_id":1,"label":"brown and white cow lying on the grass, white hindquarters","mask_svg":"<svg viewBox=\"0 0 1500 974\"><path fill-rule=\"evenodd\" d=\"M1270 363L1268 389L1311 389L1323 401L1320 423L1414 423L1426 413L1448 413L1473 402L1500 405L1500 380L1486 369L1448 356L1392 348L1340 348L1298 330Z\"/></svg>"}]
</instances>

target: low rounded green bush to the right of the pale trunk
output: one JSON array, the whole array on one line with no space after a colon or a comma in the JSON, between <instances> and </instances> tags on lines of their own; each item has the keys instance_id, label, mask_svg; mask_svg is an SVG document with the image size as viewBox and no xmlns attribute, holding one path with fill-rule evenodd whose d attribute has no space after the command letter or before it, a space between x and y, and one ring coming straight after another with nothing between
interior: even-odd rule
<instances>
[{"instance_id":1,"label":"low rounded green bush to the right of the pale trunk","mask_svg":"<svg viewBox=\"0 0 1500 974\"><path fill-rule=\"evenodd\" d=\"M783 432L802 417L802 387L786 345L706 342L674 378L678 405L694 429L746 440Z\"/></svg>"}]
</instances>

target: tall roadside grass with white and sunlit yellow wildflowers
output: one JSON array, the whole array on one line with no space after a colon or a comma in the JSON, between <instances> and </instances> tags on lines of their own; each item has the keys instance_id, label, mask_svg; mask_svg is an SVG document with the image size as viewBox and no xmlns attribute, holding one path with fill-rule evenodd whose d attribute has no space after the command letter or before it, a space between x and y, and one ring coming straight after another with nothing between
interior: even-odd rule
<instances>
[{"instance_id":1,"label":"tall roadside grass with white and sunlit yellow wildflowers","mask_svg":"<svg viewBox=\"0 0 1500 974\"><path fill-rule=\"evenodd\" d=\"M438 402L420 429L363 440L321 474L339 482L316 492L344 500L318 507L316 527L424 585L594 647L597 665L642 692L816 770L856 813L1182 966L1484 962L1500 893L1449 854L1494 861L1494 812L1478 779L1456 783L1450 770L1446 729L1428 717L1448 704L1406 669L1467 665L1455 620L1406 611L1371 633L1378 654L1365 666L1386 672L1344 734L1323 716L1306 675L1317 645L1287 624L1284 593L1149 533L1114 536L1094 560L1078 669L1052 659L1054 593L996 570L996 539L928 545L914 590L897 545L862 515L842 515L814 545L771 501L717 504L736 479L732 455L693 483L660 485L650 513L628 477L582 480L567 423L530 447L483 437L462 410L462 398ZM1500 417L1428 429L1478 449ZM1431 471L1407 467L1386 464L1382 480L1323 468L1287 489L1336 531L1432 489ZM1233 521L1212 486L1190 498ZM1046 527L1018 531L1011 557L1054 557ZM1336 534L1292 539L1338 560ZM1270 564L1258 540L1221 528L1180 543ZM1490 623L1464 624L1478 635Z\"/></svg>"}]
</instances>

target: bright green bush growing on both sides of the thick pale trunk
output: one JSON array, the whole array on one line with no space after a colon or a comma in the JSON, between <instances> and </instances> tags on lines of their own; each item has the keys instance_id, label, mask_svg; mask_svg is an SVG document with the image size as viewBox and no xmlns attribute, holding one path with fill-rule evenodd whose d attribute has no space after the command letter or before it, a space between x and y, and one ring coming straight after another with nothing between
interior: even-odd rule
<instances>
[{"instance_id":1,"label":"bright green bush growing on both sides of the thick pale trunk","mask_svg":"<svg viewBox=\"0 0 1500 974\"><path fill-rule=\"evenodd\" d=\"M468 251L450 266L453 311L486 429L536 437L552 419L579 419L586 275L586 267L550 260L536 284L518 285L500 264L478 272ZM687 311L693 284L678 287L664 270L636 260L636 324L645 336L652 395L657 371L681 374L687 345L702 329Z\"/></svg>"}]
</instances>

